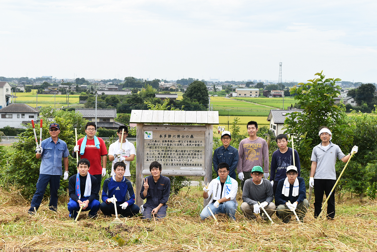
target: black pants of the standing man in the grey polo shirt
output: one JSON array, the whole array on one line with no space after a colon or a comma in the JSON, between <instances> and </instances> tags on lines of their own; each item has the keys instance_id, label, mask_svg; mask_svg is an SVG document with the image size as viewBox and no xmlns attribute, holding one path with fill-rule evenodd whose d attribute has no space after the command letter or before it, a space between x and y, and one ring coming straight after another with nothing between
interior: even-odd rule
<instances>
[{"instance_id":1,"label":"black pants of the standing man in the grey polo shirt","mask_svg":"<svg viewBox=\"0 0 377 252\"><path fill-rule=\"evenodd\" d=\"M317 217L322 209L323 192L328 197L331 189L335 185L335 179L314 179L314 217ZM331 193L327 201L327 218L333 219L335 217L335 189Z\"/></svg>"}]
</instances>

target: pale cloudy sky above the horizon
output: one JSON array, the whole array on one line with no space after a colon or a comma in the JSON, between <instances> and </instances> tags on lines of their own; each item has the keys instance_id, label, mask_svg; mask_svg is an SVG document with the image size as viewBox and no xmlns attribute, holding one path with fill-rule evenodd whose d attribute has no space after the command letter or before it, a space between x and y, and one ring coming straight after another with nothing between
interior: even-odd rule
<instances>
[{"instance_id":1,"label":"pale cloudy sky above the horizon","mask_svg":"<svg viewBox=\"0 0 377 252\"><path fill-rule=\"evenodd\" d=\"M0 76L377 82L377 1L2 0Z\"/></svg>"}]
</instances>

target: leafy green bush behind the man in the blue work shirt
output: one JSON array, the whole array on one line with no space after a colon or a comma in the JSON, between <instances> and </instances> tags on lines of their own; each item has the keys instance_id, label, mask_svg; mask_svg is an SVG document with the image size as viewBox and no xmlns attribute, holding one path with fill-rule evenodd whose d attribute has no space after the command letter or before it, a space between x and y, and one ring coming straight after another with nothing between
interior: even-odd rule
<instances>
[{"instance_id":1,"label":"leafy green bush behind the man in the blue work shirt","mask_svg":"<svg viewBox=\"0 0 377 252\"><path fill-rule=\"evenodd\" d=\"M67 143L68 149L72 152L75 145L75 128L77 128L78 138L83 137L86 119L80 113L75 111L55 110L51 107L42 107L40 116L43 119L42 139L50 137L48 126L51 122L57 122L60 125L59 138ZM6 180L14 184L16 189L26 198L31 198L35 192L39 176L39 167L41 159L35 158L35 138L31 124L26 125L25 132L19 135L19 141L13 144L15 151L9 155L9 166L6 167ZM69 174L77 173L76 159L69 157ZM59 194L65 194L68 187L68 181L63 177L60 181ZM49 190L46 190L46 194Z\"/></svg>"}]
</instances>

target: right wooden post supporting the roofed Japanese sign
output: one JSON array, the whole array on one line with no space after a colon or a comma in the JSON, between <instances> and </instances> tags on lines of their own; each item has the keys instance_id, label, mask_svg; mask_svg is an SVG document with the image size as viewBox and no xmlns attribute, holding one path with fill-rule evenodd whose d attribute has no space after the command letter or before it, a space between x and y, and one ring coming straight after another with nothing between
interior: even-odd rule
<instances>
[{"instance_id":1,"label":"right wooden post supporting the roofed Japanese sign","mask_svg":"<svg viewBox=\"0 0 377 252\"><path fill-rule=\"evenodd\" d=\"M212 145L213 145L213 125L206 124L205 138L204 138L204 164L205 164L205 176L204 184L211 182L212 180ZM204 199L203 206L208 204L209 199Z\"/></svg>"}]
</instances>

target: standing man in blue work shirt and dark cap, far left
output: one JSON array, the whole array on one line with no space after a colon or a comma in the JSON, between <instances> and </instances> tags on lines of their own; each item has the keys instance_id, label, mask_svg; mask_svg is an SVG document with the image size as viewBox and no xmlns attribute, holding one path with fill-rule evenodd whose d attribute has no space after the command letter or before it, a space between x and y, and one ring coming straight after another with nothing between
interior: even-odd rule
<instances>
[{"instance_id":1,"label":"standing man in blue work shirt and dark cap, far left","mask_svg":"<svg viewBox=\"0 0 377 252\"><path fill-rule=\"evenodd\" d=\"M57 123L50 124L50 136L44 139L40 146L36 148L35 157L42 158L39 168L39 178L37 181L37 190L31 200L28 213L34 215L43 199L44 191L47 184L50 183L50 203L49 209L57 211L58 207L58 189L60 186L60 177L62 175L61 159L64 162L64 180L68 179L68 148L66 142L59 139L60 127Z\"/></svg>"}]
</instances>

